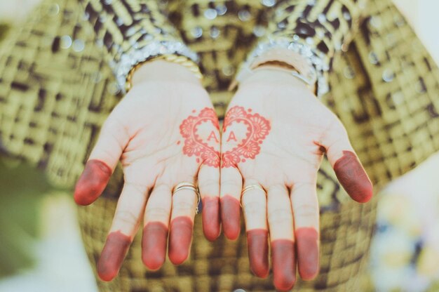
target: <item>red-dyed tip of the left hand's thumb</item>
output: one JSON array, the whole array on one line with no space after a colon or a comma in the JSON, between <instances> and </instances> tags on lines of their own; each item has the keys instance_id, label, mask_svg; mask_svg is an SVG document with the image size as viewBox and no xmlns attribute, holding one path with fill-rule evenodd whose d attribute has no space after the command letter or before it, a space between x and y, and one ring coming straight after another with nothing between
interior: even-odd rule
<instances>
[{"instance_id":1,"label":"red-dyed tip of the left hand's thumb","mask_svg":"<svg viewBox=\"0 0 439 292\"><path fill-rule=\"evenodd\" d=\"M111 176L112 169L104 162L96 159L87 161L76 183L74 191L76 204L85 206L93 203L102 194Z\"/></svg>"}]
</instances>

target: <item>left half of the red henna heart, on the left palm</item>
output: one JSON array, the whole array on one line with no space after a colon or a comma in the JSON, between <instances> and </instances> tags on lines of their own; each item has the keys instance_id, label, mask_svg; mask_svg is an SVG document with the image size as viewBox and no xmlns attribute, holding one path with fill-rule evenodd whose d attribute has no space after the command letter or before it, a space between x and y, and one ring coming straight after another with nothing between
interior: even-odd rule
<instances>
[{"instance_id":1,"label":"left half of the red henna heart, on the left palm","mask_svg":"<svg viewBox=\"0 0 439 292\"><path fill-rule=\"evenodd\" d=\"M195 112L195 111L193 111ZM198 128L203 123L212 123L214 130L212 130L205 141L198 134ZM219 143L219 123L215 110L205 107L198 116L189 116L182 121L180 125L180 133L184 138L183 153L187 156L197 157L197 162L202 164L219 167L219 151L215 149L208 142ZM219 135L219 134L218 134ZM178 143L177 143L178 144Z\"/></svg>"}]
</instances>

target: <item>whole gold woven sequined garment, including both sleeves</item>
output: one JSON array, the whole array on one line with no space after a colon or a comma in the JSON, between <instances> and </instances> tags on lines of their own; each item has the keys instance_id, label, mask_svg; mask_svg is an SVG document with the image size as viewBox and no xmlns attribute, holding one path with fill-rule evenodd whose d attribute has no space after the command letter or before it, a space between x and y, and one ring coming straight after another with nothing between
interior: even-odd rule
<instances>
[{"instance_id":1,"label":"whole gold woven sequined garment, including both sleeves","mask_svg":"<svg viewBox=\"0 0 439 292\"><path fill-rule=\"evenodd\" d=\"M46 0L0 47L1 150L44 169L56 185L72 187L102 122L122 98L114 74L123 55L136 56L132 52L156 40L187 44L200 57L204 85L222 117L232 95L225 88L252 48L286 38L306 44L320 60L330 89L321 100L346 126L378 190L439 149L439 71L389 0L370 0L366 8L359 2ZM79 208L93 267L121 182L117 168L104 197ZM361 291L376 201L349 201L326 159L318 198L320 276L296 288ZM212 244L203 239L200 220L187 263L166 262L148 272L137 236L119 277L98 281L100 289L273 290L270 277L250 273L245 236Z\"/></svg>"}]
</instances>

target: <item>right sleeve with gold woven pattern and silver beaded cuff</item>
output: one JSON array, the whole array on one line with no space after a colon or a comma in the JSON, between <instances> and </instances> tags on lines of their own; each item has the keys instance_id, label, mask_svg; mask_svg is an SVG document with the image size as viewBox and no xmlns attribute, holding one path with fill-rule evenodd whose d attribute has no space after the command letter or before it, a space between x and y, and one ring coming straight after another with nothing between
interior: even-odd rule
<instances>
[{"instance_id":1,"label":"right sleeve with gold woven pattern and silver beaded cuff","mask_svg":"<svg viewBox=\"0 0 439 292\"><path fill-rule=\"evenodd\" d=\"M248 61L271 48L288 48L304 56L316 74L318 95L329 88L325 75L335 52L344 50L358 29L366 0L283 0L274 6L268 34Z\"/></svg>"}]
</instances>

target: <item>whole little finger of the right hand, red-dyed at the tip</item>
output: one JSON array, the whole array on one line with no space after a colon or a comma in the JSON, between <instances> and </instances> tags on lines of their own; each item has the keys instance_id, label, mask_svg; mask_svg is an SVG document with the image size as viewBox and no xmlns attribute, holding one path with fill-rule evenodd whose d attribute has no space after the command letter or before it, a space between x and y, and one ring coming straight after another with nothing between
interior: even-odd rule
<instances>
[{"instance_id":1,"label":"whole little finger of the right hand, red-dyed at the tip","mask_svg":"<svg viewBox=\"0 0 439 292\"><path fill-rule=\"evenodd\" d=\"M224 235L231 240L237 239L241 232L241 191L243 178L238 168L221 168L221 184L219 196L221 198L221 222Z\"/></svg>"}]
</instances>

